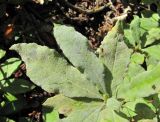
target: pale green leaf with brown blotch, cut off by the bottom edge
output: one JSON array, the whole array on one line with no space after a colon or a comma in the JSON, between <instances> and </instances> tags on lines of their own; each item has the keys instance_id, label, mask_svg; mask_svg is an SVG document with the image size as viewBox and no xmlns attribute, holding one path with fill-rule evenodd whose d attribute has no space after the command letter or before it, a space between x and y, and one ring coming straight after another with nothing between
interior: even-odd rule
<instances>
[{"instance_id":1,"label":"pale green leaf with brown blotch, cut off by the bottom edge","mask_svg":"<svg viewBox=\"0 0 160 122\"><path fill-rule=\"evenodd\" d=\"M43 106L50 109L54 107L60 114L64 114L66 118L62 122L128 122L114 111L121 106L114 98L104 103L94 99L75 100L57 95L47 99Z\"/></svg>"}]
</instances>

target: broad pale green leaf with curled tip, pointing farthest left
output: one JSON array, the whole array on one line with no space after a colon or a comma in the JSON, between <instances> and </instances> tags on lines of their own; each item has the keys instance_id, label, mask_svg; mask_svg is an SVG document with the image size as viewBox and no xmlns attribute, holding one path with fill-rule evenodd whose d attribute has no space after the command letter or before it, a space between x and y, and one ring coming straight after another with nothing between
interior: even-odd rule
<instances>
[{"instance_id":1,"label":"broad pale green leaf with curled tip, pointing farthest left","mask_svg":"<svg viewBox=\"0 0 160 122\"><path fill-rule=\"evenodd\" d=\"M35 43L16 44L11 49L26 63L28 77L44 90L69 97L101 98L96 86L55 50Z\"/></svg>"}]
</instances>

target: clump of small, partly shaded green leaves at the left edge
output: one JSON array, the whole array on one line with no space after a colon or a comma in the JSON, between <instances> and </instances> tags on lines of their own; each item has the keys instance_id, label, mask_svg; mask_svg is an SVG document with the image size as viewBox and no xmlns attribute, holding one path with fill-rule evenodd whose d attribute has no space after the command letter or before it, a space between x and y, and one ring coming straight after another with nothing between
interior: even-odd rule
<instances>
[{"instance_id":1,"label":"clump of small, partly shaded green leaves at the left edge","mask_svg":"<svg viewBox=\"0 0 160 122\"><path fill-rule=\"evenodd\" d=\"M0 50L0 59L4 56L5 51ZM28 108L27 101L24 99L22 93L35 88L35 85L27 80L13 78L13 74L17 71L21 63L22 61L18 58L9 58L0 63L0 93L3 93L3 100L0 101L1 122L14 122L5 116Z\"/></svg>"}]
</instances>

